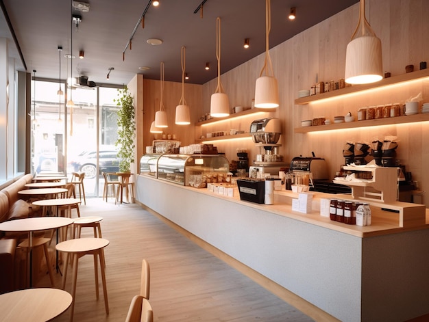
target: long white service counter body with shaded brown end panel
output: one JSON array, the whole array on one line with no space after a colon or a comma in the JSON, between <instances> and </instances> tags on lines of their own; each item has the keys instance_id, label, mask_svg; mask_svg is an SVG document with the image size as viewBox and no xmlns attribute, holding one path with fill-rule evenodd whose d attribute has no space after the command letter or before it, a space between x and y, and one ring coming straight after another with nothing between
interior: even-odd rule
<instances>
[{"instance_id":1,"label":"long white service counter body with shaded brown end panel","mask_svg":"<svg viewBox=\"0 0 429 322\"><path fill-rule=\"evenodd\" d=\"M427 228L364 238L290 206L243 202L145 175L136 178L136 200L341 321L429 313Z\"/></svg>"}]
</instances>

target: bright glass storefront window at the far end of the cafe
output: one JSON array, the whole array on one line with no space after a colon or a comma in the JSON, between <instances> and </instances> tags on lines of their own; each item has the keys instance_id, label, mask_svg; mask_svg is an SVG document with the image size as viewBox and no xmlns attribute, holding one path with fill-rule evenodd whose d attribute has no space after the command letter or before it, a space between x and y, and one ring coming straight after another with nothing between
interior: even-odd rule
<instances>
[{"instance_id":1,"label":"bright glass storefront window at the far end of the cafe","mask_svg":"<svg viewBox=\"0 0 429 322\"><path fill-rule=\"evenodd\" d=\"M32 83L32 171L85 172L86 196L101 196L101 171L116 172L116 88L75 88L65 107L58 83ZM62 86L64 88L64 85ZM70 96L70 90L69 90ZM35 107L35 108L34 108ZM36 113L34 113L34 110Z\"/></svg>"}]
</instances>

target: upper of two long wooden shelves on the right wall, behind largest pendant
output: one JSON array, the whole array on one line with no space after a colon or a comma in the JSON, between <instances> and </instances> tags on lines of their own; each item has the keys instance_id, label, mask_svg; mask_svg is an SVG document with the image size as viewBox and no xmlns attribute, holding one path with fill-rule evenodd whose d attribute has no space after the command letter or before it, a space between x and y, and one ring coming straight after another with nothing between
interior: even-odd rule
<instances>
[{"instance_id":1,"label":"upper of two long wooden shelves on the right wall, behind largest pendant","mask_svg":"<svg viewBox=\"0 0 429 322\"><path fill-rule=\"evenodd\" d=\"M339 97L345 94L371 90L373 88L382 88L384 86L403 83L406 81L415 81L417 79L424 79L426 77L429 77L429 69L417 70L415 72L408 72L406 74L388 77L378 81L377 83L352 85L347 88L341 88L331 92L297 98L295 99L295 105L306 105L308 103L315 102L316 100L323 100L324 98Z\"/></svg>"}]
</instances>

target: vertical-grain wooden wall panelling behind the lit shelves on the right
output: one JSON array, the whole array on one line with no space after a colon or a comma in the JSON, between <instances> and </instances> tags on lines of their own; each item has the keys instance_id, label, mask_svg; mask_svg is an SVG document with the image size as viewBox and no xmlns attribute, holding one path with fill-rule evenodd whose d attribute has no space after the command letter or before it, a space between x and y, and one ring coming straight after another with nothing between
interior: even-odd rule
<instances>
[{"instance_id":1,"label":"vertical-grain wooden wall panelling behind the lit shelves on the right","mask_svg":"<svg viewBox=\"0 0 429 322\"><path fill-rule=\"evenodd\" d=\"M389 92L370 91L352 98L338 98L323 103L311 103L307 106L295 106L293 101L297 92L310 88L316 81L338 80L344 77L345 51L347 43L358 21L359 5L353 5L326 21L299 33L291 40L270 50L275 77L279 82L280 109L274 113L284 125L280 152L291 161L297 155L310 155L315 151L319 157L325 157L333 177L344 159L342 150L347 139L369 142L373 137L396 135L399 142L397 159L406 165L413 178L419 181L422 190L429 190L429 174L424 173L429 163L429 152L425 144L428 137L427 123L400 124L369 127L347 131L326 131L320 133L294 134L293 128L301 120L316 116L333 118L352 111L356 116L359 107L387 103L404 103L410 96L419 92L429 102L428 84L417 83L410 88L397 86ZM376 35L382 40L384 70L391 75L404 74L405 66L413 64L419 68L419 62L429 62L429 1L425 0L367 0L366 14ZM247 105L254 92L254 84L263 65L264 55L238 66L222 75L225 92L229 95L230 105ZM210 109L210 95L215 91L217 80L204 84L204 111ZM244 103L243 103L244 102ZM236 104L237 103L237 104ZM233 124L231 124L233 126ZM226 150L234 150L234 144ZM254 152L252 142L248 149ZM232 153L232 152L230 152ZM424 198L429 205L429 198Z\"/></svg>"}]
</instances>

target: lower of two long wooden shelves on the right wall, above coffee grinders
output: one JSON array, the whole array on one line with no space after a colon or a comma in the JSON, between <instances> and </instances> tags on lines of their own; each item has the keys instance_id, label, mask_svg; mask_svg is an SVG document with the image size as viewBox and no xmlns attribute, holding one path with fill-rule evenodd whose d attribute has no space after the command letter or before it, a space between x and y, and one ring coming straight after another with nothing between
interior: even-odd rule
<instances>
[{"instance_id":1,"label":"lower of two long wooden shelves on the right wall, above coffee grinders","mask_svg":"<svg viewBox=\"0 0 429 322\"><path fill-rule=\"evenodd\" d=\"M405 124L405 123L426 122L426 121L429 121L429 113L419 113L419 114L407 115L407 116L397 116L395 118L376 118L373 120L343 122L343 123L334 123L334 124L317 125L317 126L301 126L301 127L295 127L293 131L295 133L308 133L308 132L317 132L317 131L357 129L360 127L367 127L367 126Z\"/></svg>"}]
</instances>

